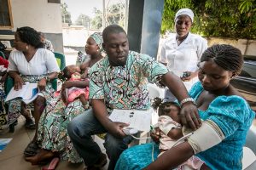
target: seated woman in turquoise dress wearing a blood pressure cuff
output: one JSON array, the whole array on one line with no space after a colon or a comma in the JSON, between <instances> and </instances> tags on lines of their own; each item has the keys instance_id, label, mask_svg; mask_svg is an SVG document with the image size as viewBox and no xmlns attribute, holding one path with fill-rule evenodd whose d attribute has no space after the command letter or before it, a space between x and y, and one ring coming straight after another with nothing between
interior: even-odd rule
<instances>
[{"instance_id":1,"label":"seated woman in turquoise dress wearing a blood pressure cuff","mask_svg":"<svg viewBox=\"0 0 256 170\"><path fill-rule=\"evenodd\" d=\"M240 73L242 64L241 51L237 48L230 45L207 48L199 63L200 82L196 82L189 93L204 120L201 127L156 160L159 150L154 144L125 150L115 168L172 169L195 155L211 169L241 169L242 146L254 117L247 101L230 85L230 80ZM183 105L186 104L181 107ZM183 134L186 133L189 129L183 127ZM152 137L159 138L156 133Z\"/></svg>"}]
</instances>

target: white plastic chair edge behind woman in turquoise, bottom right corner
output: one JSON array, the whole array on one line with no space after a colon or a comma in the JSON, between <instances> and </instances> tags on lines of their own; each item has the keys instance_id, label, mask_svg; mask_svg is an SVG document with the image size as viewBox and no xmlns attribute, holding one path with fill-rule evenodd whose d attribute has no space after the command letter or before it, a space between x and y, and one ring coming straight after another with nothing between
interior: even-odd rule
<instances>
[{"instance_id":1,"label":"white plastic chair edge behind woman in turquoise, bottom right corner","mask_svg":"<svg viewBox=\"0 0 256 170\"><path fill-rule=\"evenodd\" d=\"M242 148L243 157L242 157L242 169L246 169L251 164L253 164L254 161L256 161L256 156L253 153L253 150L247 147Z\"/></svg>"}]
</instances>

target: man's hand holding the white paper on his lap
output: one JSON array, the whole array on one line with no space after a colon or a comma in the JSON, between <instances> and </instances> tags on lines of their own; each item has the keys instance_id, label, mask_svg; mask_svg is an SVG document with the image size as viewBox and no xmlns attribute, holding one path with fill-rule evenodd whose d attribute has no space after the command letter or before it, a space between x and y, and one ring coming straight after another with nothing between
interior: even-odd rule
<instances>
[{"instance_id":1,"label":"man's hand holding the white paper on his lap","mask_svg":"<svg viewBox=\"0 0 256 170\"><path fill-rule=\"evenodd\" d=\"M108 125L107 129L108 132L116 138L124 138L126 134L123 132L123 128L128 126L129 124L124 122L111 122L111 124Z\"/></svg>"}]
</instances>

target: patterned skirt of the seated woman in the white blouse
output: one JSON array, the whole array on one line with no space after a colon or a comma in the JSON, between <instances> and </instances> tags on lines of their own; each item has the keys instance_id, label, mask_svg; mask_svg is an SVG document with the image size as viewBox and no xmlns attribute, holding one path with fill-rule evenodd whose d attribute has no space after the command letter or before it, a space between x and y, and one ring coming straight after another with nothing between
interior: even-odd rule
<instances>
[{"instance_id":1,"label":"patterned skirt of the seated woman in the white blouse","mask_svg":"<svg viewBox=\"0 0 256 170\"><path fill-rule=\"evenodd\" d=\"M24 82L38 82L41 80L45 75L40 75L40 76L34 76L34 75L26 75L26 76L21 76ZM52 88L51 83L47 83L45 90L41 92L44 95L44 98L46 99L46 102L49 101L50 99L53 99L55 90ZM27 108L32 108L33 104L30 103L27 105ZM19 116L20 116L20 109L21 109L21 99L14 99L9 101L9 111L8 111L8 125L12 124L15 122Z\"/></svg>"}]
</instances>

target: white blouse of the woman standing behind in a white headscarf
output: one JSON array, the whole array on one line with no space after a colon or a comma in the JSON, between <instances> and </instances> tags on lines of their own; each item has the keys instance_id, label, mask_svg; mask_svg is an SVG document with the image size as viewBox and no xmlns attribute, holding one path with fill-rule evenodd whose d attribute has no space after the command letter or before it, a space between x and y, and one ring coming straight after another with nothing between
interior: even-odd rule
<instances>
[{"instance_id":1,"label":"white blouse of the woman standing behind in a white headscarf","mask_svg":"<svg viewBox=\"0 0 256 170\"><path fill-rule=\"evenodd\" d=\"M172 34L163 43L160 52L160 62L166 63L167 68L178 77L183 75L183 71L197 70L197 63L201 55L207 49L207 40L199 35L189 32L188 37L178 46L176 41L177 34ZM184 82L189 90L198 79L193 78L190 82Z\"/></svg>"}]
</instances>

